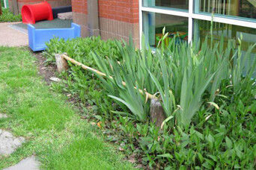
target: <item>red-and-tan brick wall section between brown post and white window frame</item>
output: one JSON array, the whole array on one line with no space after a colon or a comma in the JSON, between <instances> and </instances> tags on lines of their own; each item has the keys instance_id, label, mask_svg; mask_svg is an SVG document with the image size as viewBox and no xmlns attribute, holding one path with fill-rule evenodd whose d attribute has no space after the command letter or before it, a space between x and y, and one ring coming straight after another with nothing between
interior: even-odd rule
<instances>
[{"instance_id":1,"label":"red-and-tan brick wall section between brown post and white window frame","mask_svg":"<svg viewBox=\"0 0 256 170\"><path fill-rule=\"evenodd\" d=\"M103 40L128 40L139 45L138 0L99 0L100 34Z\"/></svg>"}]
</instances>

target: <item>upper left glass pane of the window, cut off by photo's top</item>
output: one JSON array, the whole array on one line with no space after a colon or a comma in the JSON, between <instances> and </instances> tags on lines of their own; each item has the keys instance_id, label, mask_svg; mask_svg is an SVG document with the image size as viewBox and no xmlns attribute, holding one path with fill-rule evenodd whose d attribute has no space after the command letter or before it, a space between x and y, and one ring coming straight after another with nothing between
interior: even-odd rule
<instances>
[{"instance_id":1,"label":"upper left glass pane of the window, cut off by photo's top","mask_svg":"<svg viewBox=\"0 0 256 170\"><path fill-rule=\"evenodd\" d=\"M143 0L144 7L172 7L189 10L189 0Z\"/></svg>"}]
</instances>

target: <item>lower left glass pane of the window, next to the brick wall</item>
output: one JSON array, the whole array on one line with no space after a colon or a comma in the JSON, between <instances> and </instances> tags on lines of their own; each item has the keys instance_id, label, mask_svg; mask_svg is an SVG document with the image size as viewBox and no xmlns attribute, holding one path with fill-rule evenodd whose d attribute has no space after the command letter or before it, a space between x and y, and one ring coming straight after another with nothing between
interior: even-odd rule
<instances>
[{"instance_id":1,"label":"lower left glass pane of the window, next to the brick wall","mask_svg":"<svg viewBox=\"0 0 256 170\"><path fill-rule=\"evenodd\" d=\"M156 47L162 37L162 29L168 32L165 44L177 35L180 40L188 40L188 19L181 16L171 16L161 13L143 12L143 32L145 41L152 47Z\"/></svg>"}]
</instances>

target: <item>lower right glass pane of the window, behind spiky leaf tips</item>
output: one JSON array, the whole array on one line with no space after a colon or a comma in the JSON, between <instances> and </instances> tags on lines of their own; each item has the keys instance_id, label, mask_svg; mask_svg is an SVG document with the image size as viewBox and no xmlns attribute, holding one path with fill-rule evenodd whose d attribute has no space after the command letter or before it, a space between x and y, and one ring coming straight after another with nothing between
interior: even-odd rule
<instances>
[{"instance_id":1,"label":"lower right glass pane of the window, behind spiky leaf tips","mask_svg":"<svg viewBox=\"0 0 256 170\"><path fill-rule=\"evenodd\" d=\"M201 42L204 42L205 37L209 36L209 44L210 44L210 21L203 21L199 19L194 19L194 33L193 38L195 42L198 42L200 39ZM242 40L242 54L246 54L246 51L249 48L249 45L253 45L256 42L256 29L246 28L237 25L228 25L222 24L218 22L213 22L213 41L219 42L221 40L222 34L224 35L225 41L224 45L227 47L228 40L234 40L237 45L239 45L238 38L240 38L240 34L243 34ZM252 50L252 57L256 57L256 48ZM249 63L247 63L249 64ZM253 75L256 78L256 70Z\"/></svg>"}]
</instances>

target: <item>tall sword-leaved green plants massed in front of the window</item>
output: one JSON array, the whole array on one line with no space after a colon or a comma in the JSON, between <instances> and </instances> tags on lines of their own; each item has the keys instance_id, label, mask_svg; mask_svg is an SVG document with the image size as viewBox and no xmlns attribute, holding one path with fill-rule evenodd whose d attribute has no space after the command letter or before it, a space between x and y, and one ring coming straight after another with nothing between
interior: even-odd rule
<instances>
[{"instance_id":1,"label":"tall sword-leaved green plants massed in front of the window","mask_svg":"<svg viewBox=\"0 0 256 170\"><path fill-rule=\"evenodd\" d=\"M143 89L159 97L166 118L173 118L169 121L172 127L189 127L201 107L207 107L207 110L219 107L215 98L221 95L223 81L228 82L227 86L232 86L233 100L242 95L241 91L245 88L252 89L251 78L256 70L256 59L251 57L251 53L255 45L251 45L242 57L241 44L237 48L234 41L229 40L225 48L223 37L220 42L210 46L207 38L201 46L190 46L181 41L177 43L173 39L166 47L161 42L167 35L162 37L154 53L144 42L141 51L135 49L132 41L124 48L118 45L123 57L121 62L94 54L100 70L114 78L101 78L109 97L130 110L123 114L140 122L147 121L149 101L146 95L138 92L138 89ZM246 66L246 60L252 64ZM125 81L127 86L121 81Z\"/></svg>"}]
</instances>

